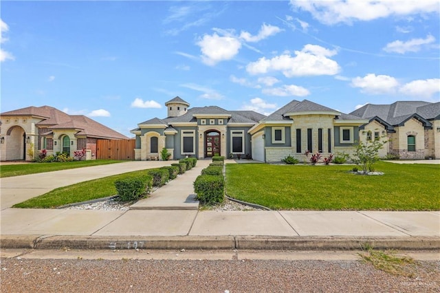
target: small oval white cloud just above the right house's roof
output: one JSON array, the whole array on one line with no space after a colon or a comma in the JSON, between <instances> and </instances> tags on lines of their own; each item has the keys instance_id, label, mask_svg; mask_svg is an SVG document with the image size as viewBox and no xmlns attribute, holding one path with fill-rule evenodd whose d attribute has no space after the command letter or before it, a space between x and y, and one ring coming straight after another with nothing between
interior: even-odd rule
<instances>
[{"instance_id":1,"label":"small oval white cloud just above the right house's roof","mask_svg":"<svg viewBox=\"0 0 440 293\"><path fill-rule=\"evenodd\" d=\"M392 94L399 87L399 82L392 76L367 74L351 80L352 87L359 87L367 94Z\"/></svg>"}]
</instances>

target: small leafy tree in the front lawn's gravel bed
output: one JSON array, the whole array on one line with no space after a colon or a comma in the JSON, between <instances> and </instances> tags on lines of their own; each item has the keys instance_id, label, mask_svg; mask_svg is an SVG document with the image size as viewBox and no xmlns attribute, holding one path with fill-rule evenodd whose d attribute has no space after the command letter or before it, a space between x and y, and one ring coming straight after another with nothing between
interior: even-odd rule
<instances>
[{"instance_id":1,"label":"small leafy tree in the front lawn's gravel bed","mask_svg":"<svg viewBox=\"0 0 440 293\"><path fill-rule=\"evenodd\" d=\"M388 140L381 140L382 138L367 142L357 142L355 144L355 151L350 158L353 163L360 166L364 174L374 171L373 165L379 160L377 153L388 142Z\"/></svg>"}]
</instances>

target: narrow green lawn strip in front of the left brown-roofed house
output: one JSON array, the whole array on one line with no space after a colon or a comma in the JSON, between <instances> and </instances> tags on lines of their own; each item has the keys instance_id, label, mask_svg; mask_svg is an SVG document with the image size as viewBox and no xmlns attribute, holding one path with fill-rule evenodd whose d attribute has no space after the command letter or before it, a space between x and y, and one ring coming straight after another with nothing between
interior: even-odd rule
<instances>
[{"instance_id":1,"label":"narrow green lawn strip in front of the left brown-roofed house","mask_svg":"<svg viewBox=\"0 0 440 293\"><path fill-rule=\"evenodd\" d=\"M43 173L65 169L83 168L88 166L98 166L104 164L114 164L125 161L117 160L88 160L74 162L52 162L52 163L29 163L29 164L11 164L0 166L0 178L19 175L28 175L34 173Z\"/></svg>"}]
</instances>

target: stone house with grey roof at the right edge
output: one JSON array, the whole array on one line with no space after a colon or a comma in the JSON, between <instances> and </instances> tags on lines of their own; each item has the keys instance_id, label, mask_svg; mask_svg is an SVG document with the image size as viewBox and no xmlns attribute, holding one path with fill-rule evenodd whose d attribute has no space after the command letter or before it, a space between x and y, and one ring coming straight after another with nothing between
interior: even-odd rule
<instances>
[{"instance_id":1,"label":"stone house with grey roof at the right edge","mask_svg":"<svg viewBox=\"0 0 440 293\"><path fill-rule=\"evenodd\" d=\"M440 158L440 102L398 101L391 105L367 104L351 115L369 120L362 138L386 134L389 142L380 155L400 159Z\"/></svg>"}]
</instances>

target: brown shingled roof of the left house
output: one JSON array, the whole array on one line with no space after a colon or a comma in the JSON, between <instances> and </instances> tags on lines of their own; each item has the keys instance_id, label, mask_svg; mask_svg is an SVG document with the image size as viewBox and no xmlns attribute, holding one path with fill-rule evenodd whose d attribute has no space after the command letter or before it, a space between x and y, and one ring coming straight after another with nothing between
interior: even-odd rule
<instances>
[{"instance_id":1,"label":"brown shingled roof of the left house","mask_svg":"<svg viewBox=\"0 0 440 293\"><path fill-rule=\"evenodd\" d=\"M76 135L86 135L93 138L105 139L128 139L118 131L92 120L84 115L69 115L54 107L25 107L13 111L7 111L1 116L32 116L43 119L36 123L37 127L47 127L48 129L76 129ZM50 132L48 132L50 133Z\"/></svg>"}]
</instances>

